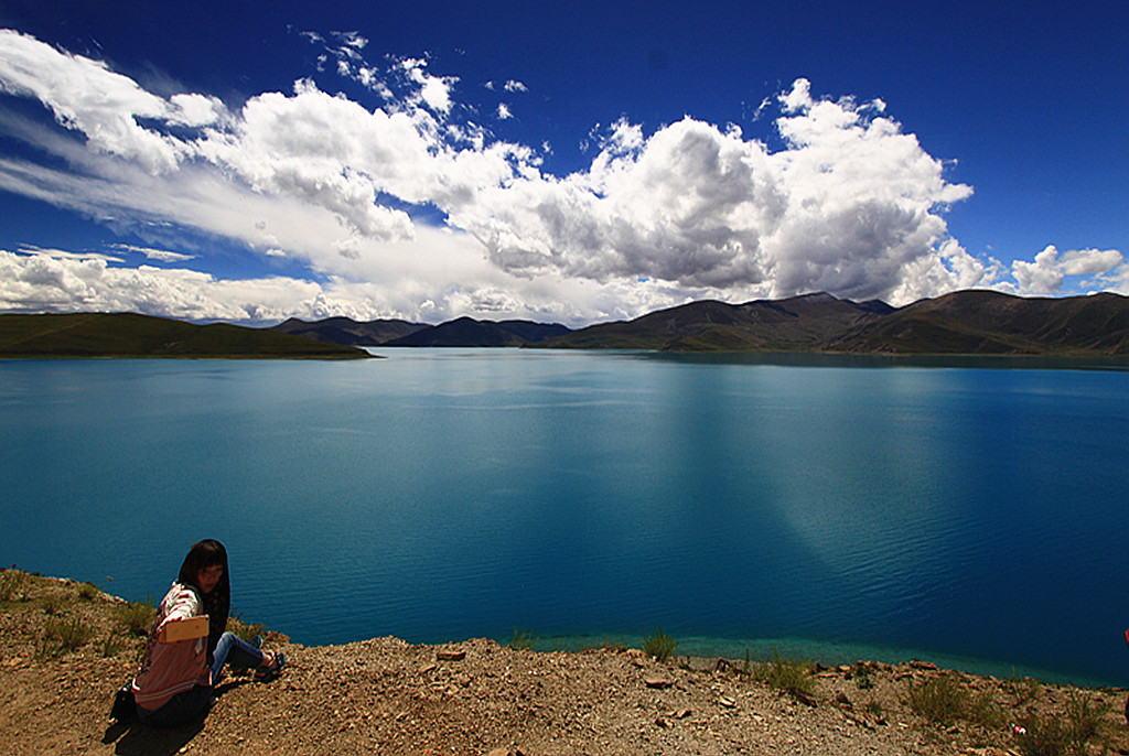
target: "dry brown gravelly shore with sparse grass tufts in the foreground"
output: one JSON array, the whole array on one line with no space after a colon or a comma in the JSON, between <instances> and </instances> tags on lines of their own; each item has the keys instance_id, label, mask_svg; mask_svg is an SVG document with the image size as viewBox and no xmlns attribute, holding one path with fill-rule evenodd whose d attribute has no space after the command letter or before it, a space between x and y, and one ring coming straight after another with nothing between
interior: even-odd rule
<instances>
[{"instance_id":1,"label":"dry brown gravelly shore with sparse grass tufts in the foreground","mask_svg":"<svg viewBox=\"0 0 1129 756\"><path fill-rule=\"evenodd\" d=\"M89 584L0 572L0 749L8 754L1129 754L1126 693L931 665L540 652L475 639L306 648L266 684L227 679L207 718L108 718L143 639ZM87 628L84 631L82 628Z\"/></svg>"}]
</instances>

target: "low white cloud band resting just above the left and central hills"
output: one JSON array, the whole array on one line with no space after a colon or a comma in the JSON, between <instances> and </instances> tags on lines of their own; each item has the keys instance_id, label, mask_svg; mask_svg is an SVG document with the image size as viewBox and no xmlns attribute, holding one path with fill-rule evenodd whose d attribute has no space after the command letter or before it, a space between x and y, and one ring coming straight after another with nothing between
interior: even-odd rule
<instances>
[{"instance_id":1,"label":"low white cloud band resting just above the left and central hills","mask_svg":"<svg viewBox=\"0 0 1129 756\"><path fill-rule=\"evenodd\" d=\"M380 265L379 274L330 275L324 281L286 276L224 280L208 273L151 265L126 267L105 255L55 249L0 249L0 311L140 311L195 320L270 324L287 317L357 320L404 318L439 323L462 315L523 317L581 326L597 319L633 317L654 302L673 306L684 295L644 295L622 282L597 285L546 276L513 281L481 258L449 255L429 239L437 256L455 262L437 279L428 264ZM437 284L437 281L439 283Z\"/></svg>"}]
</instances>

